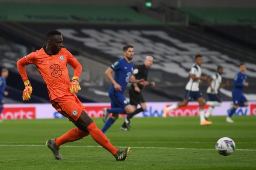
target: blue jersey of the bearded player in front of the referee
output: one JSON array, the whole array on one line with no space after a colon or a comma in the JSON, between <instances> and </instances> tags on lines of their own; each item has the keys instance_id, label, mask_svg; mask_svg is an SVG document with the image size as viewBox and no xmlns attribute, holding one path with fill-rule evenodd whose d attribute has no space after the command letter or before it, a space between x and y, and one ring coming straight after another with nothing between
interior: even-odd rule
<instances>
[{"instance_id":1,"label":"blue jersey of the bearded player in front of the referee","mask_svg":"<svg viewBox=\"0 0 256 170\"><path fill-rule=\"evenodd\" d=\"M124 58L117 60L110 67L115 71L114 80L122 87L124 93L125 87L127 86L133 71L134 63L128 63ZM114 85L110 86L109 92L114 93Z\"/></svg>"}]
</instances>

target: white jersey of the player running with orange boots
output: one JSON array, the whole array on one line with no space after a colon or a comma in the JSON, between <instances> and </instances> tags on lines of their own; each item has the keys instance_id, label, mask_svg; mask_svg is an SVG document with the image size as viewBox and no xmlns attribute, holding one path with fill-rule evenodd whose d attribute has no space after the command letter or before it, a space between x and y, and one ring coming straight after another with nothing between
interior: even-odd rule
<instances>
[{"instance_id":1,"label":"white jersey of the player running with orange boots","mask_svg":"<svg viewBox=\"0 0 256 170\"><path fill-rule=\"evenodd\" d=\"M193 64L193 67L191 68L189 74L191 76L195 74L196 77L200 77L202 74L201 67L198 66L197 64ZM193 92L199 91L199 82L200 82L199 79L193 80L192 78L190 78L186 85L186 90L193 91Z\"/></svg>"}]
</instances>

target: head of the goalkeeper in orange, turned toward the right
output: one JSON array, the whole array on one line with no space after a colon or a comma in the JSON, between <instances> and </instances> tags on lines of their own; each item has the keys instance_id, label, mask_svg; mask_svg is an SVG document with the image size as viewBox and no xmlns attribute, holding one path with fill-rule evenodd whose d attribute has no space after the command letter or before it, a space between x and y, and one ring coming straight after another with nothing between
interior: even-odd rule
<instances>
[{"instance_id":1,"label":"head of the goalkeeper in orange, turned toward the right","mask_svg":"<svg viewBox=\"0 0 256 170\"><path fill-rule=\"evenodd\" d=\"M60 52L61 48L63 47L62 42L63 38L61 36L61 32L57 30L50 30L47 33L47 47L50 48L53 54L57 54Z\"/></svg>"}]
</instances>

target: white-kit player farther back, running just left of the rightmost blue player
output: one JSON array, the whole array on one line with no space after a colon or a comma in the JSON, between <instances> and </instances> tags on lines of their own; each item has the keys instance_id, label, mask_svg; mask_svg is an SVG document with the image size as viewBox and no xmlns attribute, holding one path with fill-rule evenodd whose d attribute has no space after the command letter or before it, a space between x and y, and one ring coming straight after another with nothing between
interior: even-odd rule
<instances>
[{"instance_id":1,"label":"white-kit player farther back, running just left of the rightmost blue player","mask_svg":"<svg viewBox=\"0 0 256 170\"><path fill-rule=\"evenodd\" d=\"M221 84L222 74L223 74L223 68L221 66L218 66L217 72L211 75L211 77L207 80L209 87L206 90L208 95L208 101L206 102L206 104L210 106L205 114L205 119L207 121L209 116L213 112L214 107L221 106L222 104L222 99L220 94L218 93L218 89L224 88L230 85L229 81L227 81L225 84Z\"/></svg>"}]
</instances>

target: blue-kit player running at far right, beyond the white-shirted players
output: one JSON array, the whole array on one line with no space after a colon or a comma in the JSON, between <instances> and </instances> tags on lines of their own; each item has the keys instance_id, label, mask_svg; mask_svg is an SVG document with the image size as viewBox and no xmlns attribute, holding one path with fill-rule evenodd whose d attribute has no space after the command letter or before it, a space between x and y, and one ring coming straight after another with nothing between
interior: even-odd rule
<instances>
[{"instance_id":1,"label":"blue-kit player running at far right, beyond the white-shirted players","mask_svg":"<svg viewBox=\"0 0 256 170\"><path fill-rule=\"evenodd\" d=\"M247 107L249 105L248 100L243 95L243 87L249 86L249 83L246 82L247 77L245 74L245 70L246 70L245 63L241 63L239 65L239 70L240 72L237 73L233 82L233 85L234 85L234 89L232 90L233 106L228 110L228 117L226 118L226 122L228 123L234 123L231 117L239 106Z\"/></svg>"}]
</instances>

